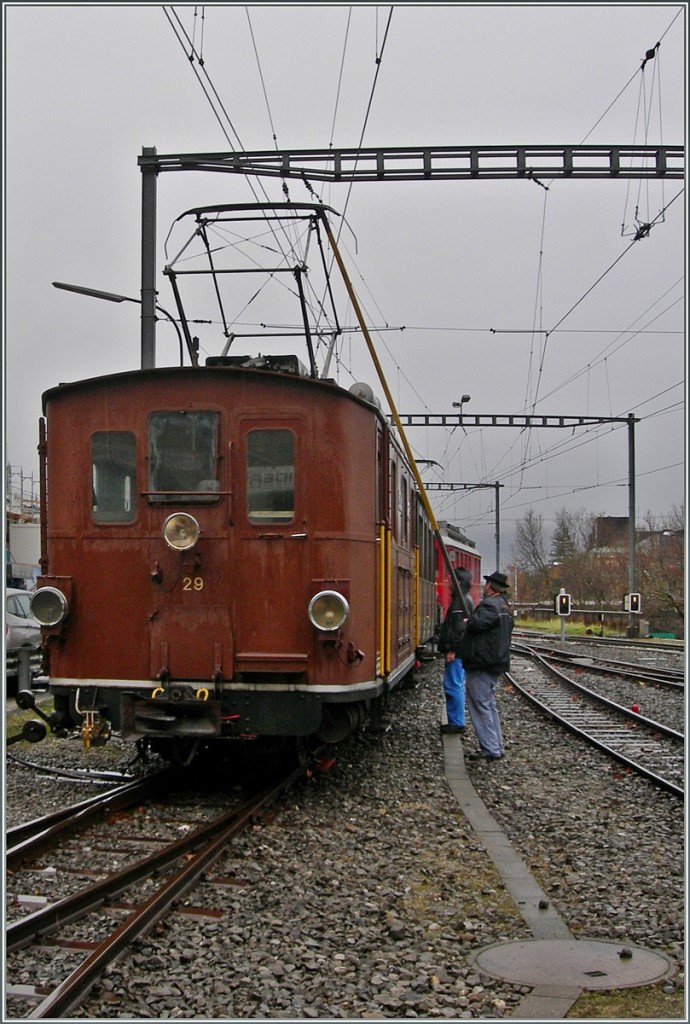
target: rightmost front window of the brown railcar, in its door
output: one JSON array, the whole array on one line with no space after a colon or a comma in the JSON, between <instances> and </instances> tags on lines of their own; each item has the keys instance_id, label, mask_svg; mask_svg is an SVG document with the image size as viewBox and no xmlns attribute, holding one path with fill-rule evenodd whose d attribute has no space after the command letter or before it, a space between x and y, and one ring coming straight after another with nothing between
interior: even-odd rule
<instances>
[{"instance_id":1,"label":"rightmost front window of the brown railcar, in its door","mask_svg":"<svg viewBox=\"0 0 690 1024\"><path fill-rule=\"evenodd\" d=\"M292 430L247 434L247 515L254 523L295 518L295 435Z\"/></svg>"}]
</instances>

